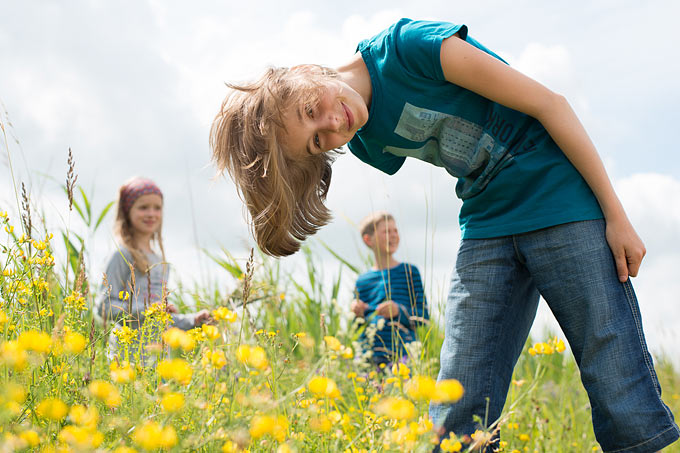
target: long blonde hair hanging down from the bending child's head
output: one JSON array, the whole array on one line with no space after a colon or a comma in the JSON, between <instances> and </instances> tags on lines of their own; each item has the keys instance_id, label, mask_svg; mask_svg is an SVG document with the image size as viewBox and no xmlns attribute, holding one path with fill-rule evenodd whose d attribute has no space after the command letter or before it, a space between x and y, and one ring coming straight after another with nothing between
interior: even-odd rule
<instances>
[{"instance_id":1,"label":"long blonde hair hanging down from the bending child's head","mask_svg":"<svg viewBox=\"0 0 680 453\"><path fill-rule=\"evenodd\" d=\"M336 152L285 157L278 141L283 113L316 102L324 80L336 73L316 67L301 74L270 68L257 81L232 85L210 129L213 162L226 169L250 213L250 229L260 249L291 255L331 219L324 201Z\"/></svg>"}]
</instances>

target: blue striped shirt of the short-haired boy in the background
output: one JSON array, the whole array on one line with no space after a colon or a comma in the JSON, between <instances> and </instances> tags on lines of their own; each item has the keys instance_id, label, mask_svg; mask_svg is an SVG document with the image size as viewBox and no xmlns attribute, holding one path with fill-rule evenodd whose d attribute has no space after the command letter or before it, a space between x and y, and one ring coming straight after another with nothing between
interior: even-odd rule
<instances>
[{"instance_id":1,"label":"blue striped shirt of the short-haired boy in the background","mask_svg":"<svg viewBox=\"0 0 680 453\"><path fill-rule=\"evenodd\" d=\"M418 268L400 263L389 269L365 272L357 279L355 293L368 304L364 313L367 323L377 327L380 320L384 320L383 328L376 332L373 341L373 355L403 356L404 343L415 340L416 326L430 317ZM391 320L375 313L378 305L386 300L399 305L399 315ZM363 335L362 339L366 340Z\"/></svg>"}]
</instances>

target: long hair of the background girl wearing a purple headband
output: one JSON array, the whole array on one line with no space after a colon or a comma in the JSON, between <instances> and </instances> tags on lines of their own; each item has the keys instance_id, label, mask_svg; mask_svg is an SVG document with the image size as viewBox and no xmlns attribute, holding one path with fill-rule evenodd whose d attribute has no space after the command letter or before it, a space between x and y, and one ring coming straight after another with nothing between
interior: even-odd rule
<instances>
[{"instance_id":1,"label":"long hair of the background girl wearing a purple headband","mask_svg":"<svg viewBox=\"0 0 680 453\"><path fill-rule=\"evenodd\" d=\"M116 220L113 224L113 233L118 238L118 240L130 251L134 267L143 273L147 273L149 271L149 260L146 257L144 251L139 248L139 245L135 240L134 228L130 222L130 208L132 205L126 203L125 201L125 194L126 191L129 190L130 185L139 181L151 182L150 180L144 180L140 177L134 177L120 186L120 189L118 190L118 208L116 212ZM163 219L161 218L160 224L158 225L158 231L156 231L151 236L151 243L153 244L155 242L158 244L163 261L165 261L165 249L163 248L163 236L161 234L162 227Z\"/></svg>"}]
</instances>

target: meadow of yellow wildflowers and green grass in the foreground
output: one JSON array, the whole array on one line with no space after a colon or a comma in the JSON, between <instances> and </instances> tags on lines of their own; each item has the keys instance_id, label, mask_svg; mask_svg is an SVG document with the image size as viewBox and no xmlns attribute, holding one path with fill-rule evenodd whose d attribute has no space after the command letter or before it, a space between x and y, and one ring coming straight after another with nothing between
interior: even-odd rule
<instances>
[{"instance_id":1,"label":"meadow of yellow wildflowers and green grass in the foreground","mask_svg":"<svg viewBox=\"0 0 680 453\"><path fill-rule=\"evenodd\" d=\"M245 272L229 268L235 293L194 291L213 325L173 328L160 302L141 327L143 357L125 327L109 359L112 326L92 313L87 270L69 279L52 235L19 235L5 213L0 221L0 451L428 452L438 440L428 405L464 394L432 378L434 324L405 364L373 368L361 359L360 326L340 322L348 309L337 287L329 298L312 273L306 285L289 282L252 260ZM503 418L479 420L477 433L452 435L443 450L476 451L500 429L501 451L597 451L564 349L557 338L527 344ZM680 377L670 365L659 371L677 414Z\"/></svg>"}]
</instances>

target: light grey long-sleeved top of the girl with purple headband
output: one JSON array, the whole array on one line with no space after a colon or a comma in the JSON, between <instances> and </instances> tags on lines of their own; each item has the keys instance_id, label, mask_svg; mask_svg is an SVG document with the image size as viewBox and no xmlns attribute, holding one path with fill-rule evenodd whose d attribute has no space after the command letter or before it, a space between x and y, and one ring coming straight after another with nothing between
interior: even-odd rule
<instances>
[{"instance_id":1,"label":"light grey long-sleeved top of the girl with purple headband","mask_svg":"<svg viewBox=\"0 0 680 453\"><path fill-rule=\"evenodd\" d=\"M134 291L132 290L132 273L130 265L133 262L132 253L120 246L109 258L106 266L106 281L108 287L102 285L99 295L95 301L95 311L106 322L113 322L118 326L123 325L123 320L127 319L127 325L131 329L139 330L144 323L144 311L153 303L162 300L163 292L167 292L168 276L170 265L163 262L161 256L156 253L147 253L149 260L148 275L136 269L134 279ZM119 297L121 291L130 294L128 300ZM175 327L189 330L194 327L195 313L171 314ZM137 344L130 348L130 356L134 356L139 350L140 339ZM110 355L115 355L118 350L118 340L111 332L109 336Z\"/></svg>"}]
</instances>

